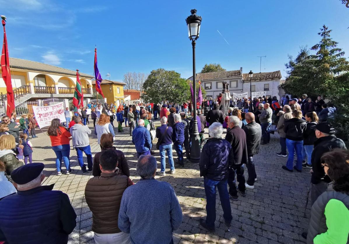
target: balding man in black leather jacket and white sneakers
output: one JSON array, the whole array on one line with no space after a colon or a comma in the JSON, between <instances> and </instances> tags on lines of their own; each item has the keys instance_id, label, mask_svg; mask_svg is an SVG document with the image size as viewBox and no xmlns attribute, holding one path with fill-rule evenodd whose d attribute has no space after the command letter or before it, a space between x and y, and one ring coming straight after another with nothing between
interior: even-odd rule
<instances>
[{"instance_id":1,"label":"balding man in black leather jacket and white sneakers","mask_svg":"<svg viewBox=\"0 0 349 244\"><path fill-rule=\"evenodd\" d=\"M254 121L253 113L246 113L245 119L247 124L243 127L246 133L246 144L248 163L246 164L248 170L248 179L245 183L245 187L249 189L254 188L254 181L257 178L257 174L253 164L253 155L258 154L259 145L262 137L262 129L259 124Z\"/></svg>"}]
</instances>

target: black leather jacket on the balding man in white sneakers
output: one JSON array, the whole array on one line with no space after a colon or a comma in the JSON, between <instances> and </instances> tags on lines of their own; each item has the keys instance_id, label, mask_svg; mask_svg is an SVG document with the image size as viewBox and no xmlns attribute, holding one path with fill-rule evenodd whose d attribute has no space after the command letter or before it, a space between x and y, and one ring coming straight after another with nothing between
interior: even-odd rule
<instances>
[{"instance_id":1,"label":"black leather jacket on the balding man in white sneakers","mask_svg":"<svg viewBox=\"0 0 349 244\"><path fill-rule=\"evenodd\" d=\"M258 154L259 145L262 137L262 129L260 124L252 121L249 124L246 124L242 128L246 133L246 144L247 144L247 153L248 155Z\"/></svg>"}]
</instances>

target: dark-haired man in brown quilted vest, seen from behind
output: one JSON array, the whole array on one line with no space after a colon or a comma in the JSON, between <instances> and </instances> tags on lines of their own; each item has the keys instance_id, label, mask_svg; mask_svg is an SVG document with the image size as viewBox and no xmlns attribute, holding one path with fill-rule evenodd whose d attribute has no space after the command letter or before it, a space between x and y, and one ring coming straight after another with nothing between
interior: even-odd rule
<instances>
[{"instance_id":1,"label":"dark-haired man in brown quilted vest, seen from behind","mask_svg":"<svg viewBox=\"0 0 349 244\"><path fill-rule=\"evenodd\" d=\"M125 189L133 185L117 168L118 154L105 150L99 156L101 176L91 178L85 188L86 203L92 212L92 230L95 243L131 243L129 234L118 228L121 197ZM113 240L113 242L110 242Z\"/></svg>"}]
</instances>

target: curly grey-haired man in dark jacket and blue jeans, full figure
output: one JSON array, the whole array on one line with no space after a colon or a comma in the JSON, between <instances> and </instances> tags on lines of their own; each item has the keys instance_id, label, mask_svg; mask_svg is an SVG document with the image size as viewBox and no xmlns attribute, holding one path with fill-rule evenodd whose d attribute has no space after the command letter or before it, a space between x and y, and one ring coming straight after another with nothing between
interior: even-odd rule
<instances>
[{"instance_id":1,"label":"curly grey-haired man in dark jacket and blue jeans, full figure","mask_svg":"<svg viewBox=\"0 0 349 244\"><path fill-rule=\"evenodd\" d=\"M228 168L233 164L234 155L228 141L222 139L223 126L213 123L208 128L210 139L203 146L200 156L200 177L204 177L207 217L200 219L200 225L209 231L215 231L216 187L221 199L225 225L232 220L229 193L227 189Z\"/></svg>"}]
</instances>

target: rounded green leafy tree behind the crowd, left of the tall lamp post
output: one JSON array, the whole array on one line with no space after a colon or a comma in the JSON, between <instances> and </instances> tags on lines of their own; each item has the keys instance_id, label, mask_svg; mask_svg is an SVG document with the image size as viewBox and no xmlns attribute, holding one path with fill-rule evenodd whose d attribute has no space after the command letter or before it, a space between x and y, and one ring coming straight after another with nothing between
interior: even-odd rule
<instances>
[{"instance_id":1,"label":"rounded green leafy tree behind the crowd, left of the tall lamp post","mask_svg":"<svg viewBox=\"0 0 349 244\"><path fill-rule=\"evenodd\" d=\"M190 86L187 81L175 71L159 68L151 71L143 84L142 99L159 103L169 100L174 103L183 103L190 98Z\"/></svg>"}]
</instances>

